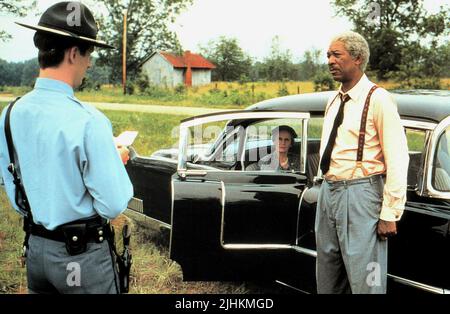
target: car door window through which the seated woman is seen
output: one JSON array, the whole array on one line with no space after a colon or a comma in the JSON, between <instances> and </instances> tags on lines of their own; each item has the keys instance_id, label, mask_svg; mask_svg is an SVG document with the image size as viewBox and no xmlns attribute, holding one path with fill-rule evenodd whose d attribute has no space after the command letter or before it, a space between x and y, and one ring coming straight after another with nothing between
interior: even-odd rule
<instances>
[{"instance_id":1,"label":"car door window through which the seated woman is seen","mask_svg":"<svg viewBox=\"0 0 450 314\"><path fill-rule=\"evenodd\" d=\"M246 129L243 164L246 171L300 171L299 119L271 119Z\"/></svg>"}]
</instances>

